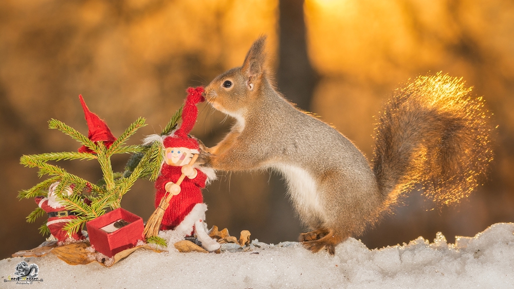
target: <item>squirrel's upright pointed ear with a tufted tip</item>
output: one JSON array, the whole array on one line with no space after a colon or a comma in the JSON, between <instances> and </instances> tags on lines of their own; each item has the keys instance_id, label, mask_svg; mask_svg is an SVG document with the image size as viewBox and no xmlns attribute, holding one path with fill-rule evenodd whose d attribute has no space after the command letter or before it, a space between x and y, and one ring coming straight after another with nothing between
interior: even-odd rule
<instances>
[{"instance_id":1,"label":"squirrel's upright pointed ear with a tufted tip","mask_svg":"<svg viewBox=\"0 0 514 289\"><path fill-rule=\"evenodd\" d=\"M264 72L264 65L266 62L266 36L260 37L252 44L248 54L246 55L245 62L243 63L242 71L249 78L248 85L251 84L250 89L253 88L253 82L259 79Z\"/></svg>"}]
</instances>

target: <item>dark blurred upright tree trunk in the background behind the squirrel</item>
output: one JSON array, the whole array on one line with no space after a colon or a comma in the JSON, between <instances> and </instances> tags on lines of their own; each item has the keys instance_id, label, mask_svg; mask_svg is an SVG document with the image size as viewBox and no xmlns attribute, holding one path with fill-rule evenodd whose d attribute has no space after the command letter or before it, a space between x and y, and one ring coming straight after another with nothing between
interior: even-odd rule
<instances>
[{"instance_id":1,"label":"dark blurred upright tree trunk in the background behind the squirrel","mask_svg":"<svg viewBox=\"0 0 514 289\"><path fill-rule=\"evenodd\" d=\"M303 3L303 0L279 1L277 81L279 91L287 99L296 103L299 109L308 111L317 77L307 55ZM269 182L271 210L267 223L274 239L272 242L296 241L301 225L285 196L284 182L276 174L271 175Z\"/></svg>"}]
</instances>

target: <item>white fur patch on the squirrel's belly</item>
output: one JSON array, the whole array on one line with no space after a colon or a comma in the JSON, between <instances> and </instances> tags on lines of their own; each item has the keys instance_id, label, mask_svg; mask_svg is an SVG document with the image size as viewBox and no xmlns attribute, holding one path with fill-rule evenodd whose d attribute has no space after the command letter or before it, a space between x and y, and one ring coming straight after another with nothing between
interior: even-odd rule
<instances>
[{"instance_id":1,"label":"white fur patch on the squirrel's belly","mask_svg":"<svg viewBox=\"0 0 514 289\"><path fill-rule=\"evenodd\" d=\"M315 221L305 219L313 219L313 216L318 220L323 219L320 218L323 210L320 204L318 186L313 177L304 169L291 165L275 164L273 168L284 175L291 201L298 210L302 221L307 224Z\"/></svg>"}]
</instances>

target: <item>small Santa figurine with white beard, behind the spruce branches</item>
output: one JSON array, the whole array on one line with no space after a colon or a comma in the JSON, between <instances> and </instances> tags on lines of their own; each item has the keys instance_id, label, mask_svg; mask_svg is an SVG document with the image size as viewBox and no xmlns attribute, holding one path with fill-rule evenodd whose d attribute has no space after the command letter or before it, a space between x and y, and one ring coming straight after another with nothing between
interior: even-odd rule
<instances>
[{"instance_id":1,"label":"small Santa figurine with white beard, behind the spruce branches","mask_svg":"<svg viewBox=\"0 0 514 289\"><path fill-rule=\"evenodd\" d=\"M62 200L60 200L59 196L56 194L56 188L58 185L59 182L50 185L47 197L35 197L36 204L38 204L40 208L48 213L48 221L46 222L46 226L48 229L50 229L50 233L57 239L57 242L59 243L63 243L65 241L69 242L84 240L85 237L82 235L80 230L71 234L64 230L64 226L66 226L70 221L77 219L77 214L75 212L66 210ZM73 193L70 187L66 187L65 192L68 195Z\"/></svg>"}]
</instances>

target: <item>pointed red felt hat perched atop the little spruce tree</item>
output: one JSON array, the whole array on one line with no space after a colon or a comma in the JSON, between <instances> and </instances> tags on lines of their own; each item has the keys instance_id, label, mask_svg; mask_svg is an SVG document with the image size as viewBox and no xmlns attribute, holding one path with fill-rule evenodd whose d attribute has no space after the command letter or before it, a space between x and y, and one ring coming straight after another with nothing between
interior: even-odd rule
<instances>
[{"instance_id":1,"label":"pointed red felt hat perched atop the little spruce tree","mask_svg":"<svg viewBox=\"0 0 514 289\"><path fill-rule=\"evenodd\" d=\"M104 145L109 148L116 140L113 133L109 127L107 127L107 123L101 120L98 115L89 111L82 95L79 95L80 103L82 104L82 109L84 110L84 115L87 121L87 128L89 129L87 133L87 138L89 138L93 142L103 141ZM82 146L79 148L80 153L95 153L91 149L86 146Z\"/></svg>"}]
</instances>

